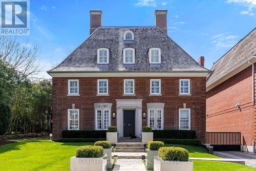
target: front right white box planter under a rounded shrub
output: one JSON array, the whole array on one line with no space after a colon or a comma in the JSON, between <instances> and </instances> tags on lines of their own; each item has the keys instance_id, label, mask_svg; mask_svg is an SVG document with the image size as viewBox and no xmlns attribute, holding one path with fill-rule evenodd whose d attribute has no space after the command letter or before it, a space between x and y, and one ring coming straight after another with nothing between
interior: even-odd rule
<instances>
[{"instance_id":1,"label":"front right white box planter under a rounded shrub","mask_svg":"<svg viewBox=\"0 0 256 171\"><path fill-rule=\"evenodd\" d=\"M193 171L191 161L164 161L154 157L154 171Z\"/></svg>"}]
</instances>

